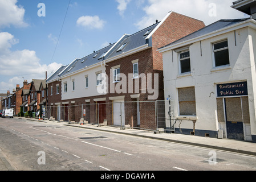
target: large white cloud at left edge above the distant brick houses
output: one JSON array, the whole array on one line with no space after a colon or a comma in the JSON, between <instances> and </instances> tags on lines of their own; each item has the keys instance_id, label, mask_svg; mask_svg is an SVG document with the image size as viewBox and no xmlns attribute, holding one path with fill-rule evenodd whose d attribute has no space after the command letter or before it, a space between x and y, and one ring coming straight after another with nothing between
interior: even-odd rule
<instances>
[{"instance_id":1,"label":"large white cloud at left edge above the distant brick houses","mask_svg":"<svg viewBox=\"0 0 256 182\"><path fill-rule=\"evenodd\" d=\"M28 81L44 79L46 71L47 75L50 76L52 71L56 71L62 65L58 63L40 64L36 52L28 49L12 51L11 46L17 43L18 40L9 32L0 32L1 90L9 90L10 88L12 90L16 84L22 85L22 77Z\"/></svg>"}]
</instances>

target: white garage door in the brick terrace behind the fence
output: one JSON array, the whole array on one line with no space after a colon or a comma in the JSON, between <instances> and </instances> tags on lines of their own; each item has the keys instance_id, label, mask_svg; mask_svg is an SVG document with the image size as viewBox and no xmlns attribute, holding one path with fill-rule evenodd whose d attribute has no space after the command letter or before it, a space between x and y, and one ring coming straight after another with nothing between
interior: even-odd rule
<instances>
[{"instance_id":1,"label":"white garage door in the brick terrace behind the fence","mask_svg":"<svg viewBox=\"0 0 256 182\"><path fill-rule=\"evenodd\" d=\"M122 110L122 121L121 121L121 110ZM125 125L124 122L124 100L116 100L113 101L113 119L114 119L114 125L116 126L121 126L121 122L122 125Z\"/></svg>"}]
</instances>

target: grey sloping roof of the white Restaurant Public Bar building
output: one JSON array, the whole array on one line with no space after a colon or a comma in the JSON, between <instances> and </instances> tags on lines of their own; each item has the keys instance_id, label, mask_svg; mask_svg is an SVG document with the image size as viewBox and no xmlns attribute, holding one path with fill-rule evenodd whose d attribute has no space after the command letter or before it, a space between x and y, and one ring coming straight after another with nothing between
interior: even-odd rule
<instances>
[{"instance_id":1,"label":"grey sloping roof of the white Restaurant Public Bar building","mask_svg":"<svg viewBox=\"0 0 256 182\"><path fill-rule=\"evenodd\" d=\"M244 19L221 19L221 20L218 20L217 22L209 24L208 26L206 26L204 28L201 28L198 31L193 32L192 34L189 34L189 35L185 36L184 38L176 40L176 41L174 41L174 42L172 42L172 43L170 43L170 44L168 44L168 45L166 45L164 47L168 47L170 45L182 43L182 42L185 42L186 40L190 40L190 39L197 38L197 37L200 37L200 36L205 35L205 34L209 34L210 32L214 32L214 31L220 30L222 28L232 26L234 24L237 24L239 22L243 22L243 21L248 20L248 19L250 19L250 18L244 18ZM161 48L164 48L164 47L161 47Z\"/></svg>"}]
</instances>

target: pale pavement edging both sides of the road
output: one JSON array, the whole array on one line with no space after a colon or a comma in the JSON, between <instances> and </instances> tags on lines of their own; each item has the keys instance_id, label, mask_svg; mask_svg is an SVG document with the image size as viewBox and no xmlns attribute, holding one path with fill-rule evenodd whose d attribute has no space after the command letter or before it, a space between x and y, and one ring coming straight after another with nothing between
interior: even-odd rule
<instances>
[{"instance_id":1,"label":"pale pavement edging both sides of the road","mask_svg":"<svg viewBox=\"0 0 256 182\"><path fill-rule=\"evenodd\" d=\"M137 129L121 129L120 127L112 127L112 126L101 126L84 124L80 125L78 123L68 124L67 122L56 122L56 121L38 121L38 119L31 118L22 118L35 122L44 122L50 123L54 125L64 125L70 127L80 127L83 129L91 129L97 131L104 131L110 133L124 134L124 135L132 135L135 137L149 138L155 140L162 140L166 142L180 143L180 144L188 144L190 146L204 147L212 150L221 150L226 152L235 152L238 154L244 155L253 155L256 156L256 143L246 142L241 140L233 140L233 139L217 139L217 138L209 138L209 137L197 137L194 135L182 135L182 134L169 134L169 133L161 133L155 134L154 131L149 130L137 130ZM5 158L5 155L0 149L0 171L12 171L14 170L11 167L11 164Z\"/></svg>"}]
</instances>

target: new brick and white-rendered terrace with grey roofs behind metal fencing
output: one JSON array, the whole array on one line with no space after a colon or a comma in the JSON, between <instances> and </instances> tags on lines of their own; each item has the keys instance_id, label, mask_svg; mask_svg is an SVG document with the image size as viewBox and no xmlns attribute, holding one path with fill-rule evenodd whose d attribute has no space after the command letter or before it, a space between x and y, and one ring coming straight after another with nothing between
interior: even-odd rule
<instances>
[{"instance_id":1,"label":"new brick and white-rendered terrace with grey roofs behind metal fencing","mask_svg":"<svg viewBox=\"0 0 256 182\"><path fill-rule=\"evenodd\" d=\"M202 27L204 22L170 11L161 22L75 59L47 79L51 116L155 130L155 101L164 100L162 55L156 50Z\"/></svg>"}]
</instances>

